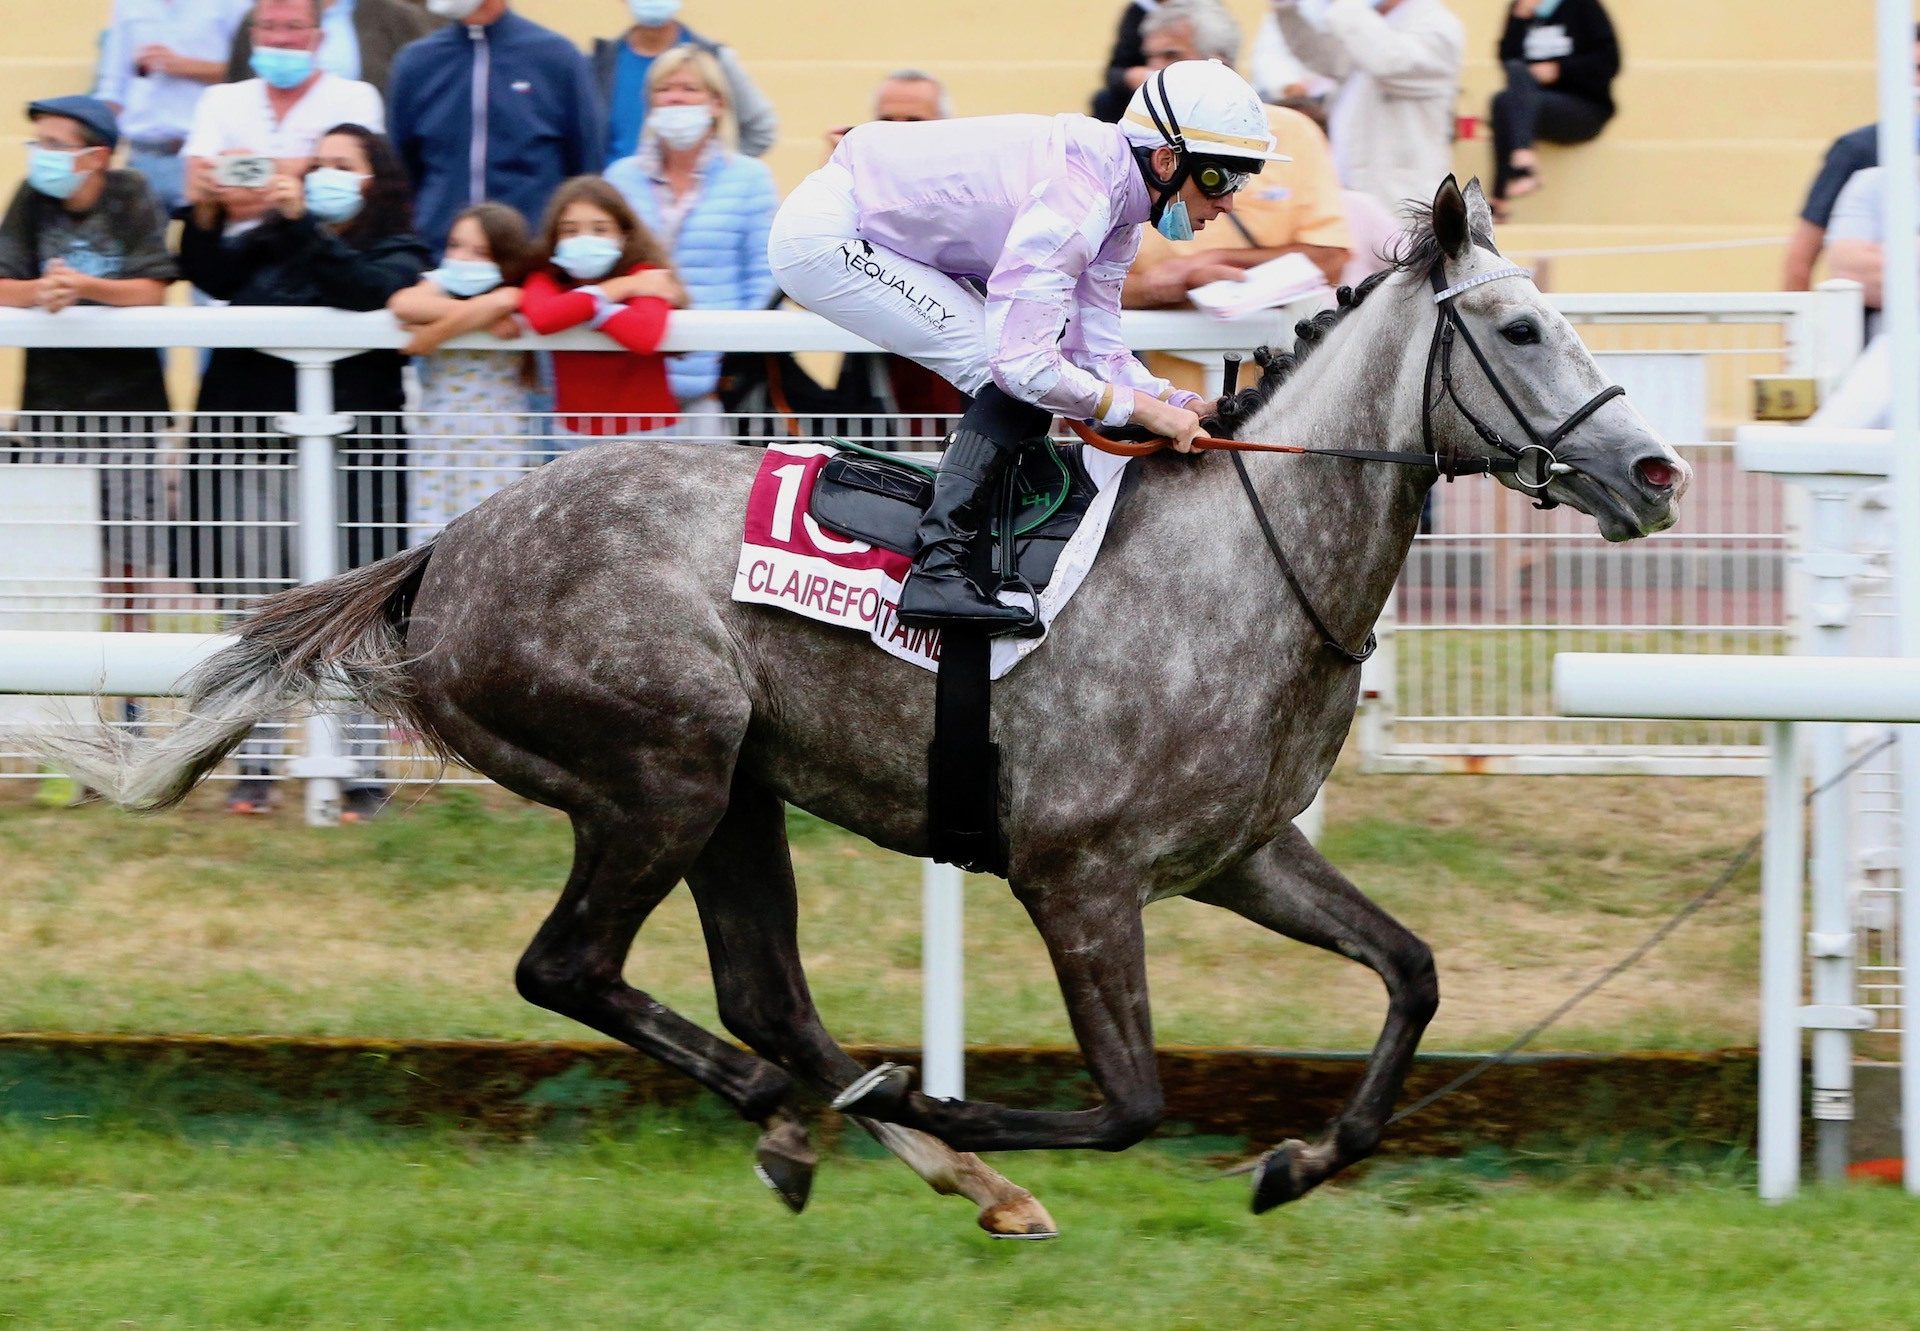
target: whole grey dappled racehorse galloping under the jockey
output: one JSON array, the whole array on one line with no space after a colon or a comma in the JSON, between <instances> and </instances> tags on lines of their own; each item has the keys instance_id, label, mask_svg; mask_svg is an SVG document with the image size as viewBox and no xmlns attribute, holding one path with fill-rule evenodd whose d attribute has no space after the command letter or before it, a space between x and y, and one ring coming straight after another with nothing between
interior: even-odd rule
<instances>
[{"instance_id":1,"label":"whole grey dappled racehorse galloping under the jockey","mask_svg":"<svg viewBox=\"0 0 1920 1331\"><path fill-rule=\"evenodd\" d=\"M1323 317L1240 405L1240 434L1313 448L1494 449L1515 428L1486 369L1534 423L1605 388L1524 277L1455 298L1488 365L1461 357L1453 401L1428 363L1446 286L1507 267L1476 184L1452 179L1402 238L1402 267ZM1284 380L1284 382L1283 382ZM1549 496L1609 540L1670 526L1688 467L1624 401L1555 446ZM520 993L626 1041L764 1125L762 1175L799 1210L814 1152L801 1089L866 1076L822 1028L795 939L781 803L876 843L925 851L933 676L864 634L730 599L758 453L636 444L582 449L453 522L432 545L269 599L196 678L192 718L154 741L61 757L109 797L171 805L257 720L326 680L574 824L574 866L518 964ZM1332 636L1365 640L1394 590L1434 472L1252 455L1254 486ZM1371 966L1388 1012L1352 1101L1313 1145L1256 1174L1258 1210L1373 1152L1438 1003L1425 943L1294 830L1354 716L1359 668L1329 651L1277 574L1221 455L1154 455L1052 641L995 691L1008 882L1046 941L1104 1102L1077 1112L935 1101L868 1077L851 1106L993 1233L1046 1237L1025 1191L973 1154L1119 1150L1162 1112L1140 910L1190 897ZM1505 478L1515 484L1513 476ZM1484 482L1478 482L1484 484ZM123 743L123 747L115 747ZM720 1018L753 1051L624 980L647 914L685 880Z\"/></svg>"}]
</instances>

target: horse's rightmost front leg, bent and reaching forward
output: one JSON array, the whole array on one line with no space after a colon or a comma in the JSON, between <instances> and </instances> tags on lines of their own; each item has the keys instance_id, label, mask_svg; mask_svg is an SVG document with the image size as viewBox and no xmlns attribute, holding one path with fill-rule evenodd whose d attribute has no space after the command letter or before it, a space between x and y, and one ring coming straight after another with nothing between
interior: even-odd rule
<instances>
[{"instance_id":1,"label":"horse's rightmost front leg, bent and reaching forward","mask_svg":"<svg viewBox=\"0 0 1920 1331\"><path fill-rule=\"evenodd\" d=\"M1386 981L1386 1026L1373 1045L1359 1087L1317 1143L1309 1147L1288 1141L1261 1160L1254 1174L1258 1214L1294 1200L1356 1160L1371 1156L1380 1145L1386 1118L1413 1064L1413 1051L1440 1006L1434 956L1394 916L1367 901L1292 826L1187 895L1242 914L1275 933L1350 956Z\"/></svg>"}]
</instances>

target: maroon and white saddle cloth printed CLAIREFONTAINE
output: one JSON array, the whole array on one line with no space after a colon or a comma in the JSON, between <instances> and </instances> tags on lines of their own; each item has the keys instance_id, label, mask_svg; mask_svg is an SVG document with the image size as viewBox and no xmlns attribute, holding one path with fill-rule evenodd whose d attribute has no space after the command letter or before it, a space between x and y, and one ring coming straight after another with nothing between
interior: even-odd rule
<instances>
[{"instance_id":1,"label":"maroon and white saddle cloth printed CLAIREFONTAINE","mask_svg":"<svg viewBox=\"0 0 1920 1331\"><path fill-rule=\"evenodd\" d=\"M939 670L939 630L899 622L900 584L912 559L897 549L845 536L812 513L814 486L828 461L841 449L826 444L768 444L747 496L747 522L733 570L733 599L778 605L824 624L854 628L874 645L925 670ZM1091 453L1087 480L1094 496L1087 515L1060 547L1046 586L1039 592L1041 620L1050 624L1079 590L1100 551L1114 499L1125 474L1125 457ZM1025 605L1016 592L1002 592L1008 605ZM1039 638L996 638L993 678L1025 661Z\"/></svg>"}]
</instances>

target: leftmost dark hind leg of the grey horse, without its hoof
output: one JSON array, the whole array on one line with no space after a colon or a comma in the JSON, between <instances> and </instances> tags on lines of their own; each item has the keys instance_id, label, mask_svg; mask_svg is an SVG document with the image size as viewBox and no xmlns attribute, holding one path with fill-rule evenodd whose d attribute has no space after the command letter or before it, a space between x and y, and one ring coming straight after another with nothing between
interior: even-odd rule
<instances>
[{"instance_id":1,"label":"leftmost dark hind leg of the grey horse, without its hoof","mask_svg":"<svg viewBox=\"0 0 1920 1331\"><path fill-rule=\"evenodd\" d=\"M553 912L534 935L515 981L538 1006L570 1016L687 1074L762 1122L780 1110L793 1079L774 1064L712 1035L634 989L622 978L634 935L674 889L718 809L680 805L672 826L616 812L574 812L574 866Z\"/></svg>"}]
</instances>

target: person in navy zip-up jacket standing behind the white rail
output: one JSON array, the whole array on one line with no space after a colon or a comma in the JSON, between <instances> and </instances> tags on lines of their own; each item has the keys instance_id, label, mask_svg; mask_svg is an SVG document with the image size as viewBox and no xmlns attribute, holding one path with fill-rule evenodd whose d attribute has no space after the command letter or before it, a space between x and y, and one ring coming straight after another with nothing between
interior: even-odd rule
<instances>
[{"instance_id":1,"label":"person in navy zip-up jacket standing behind the white rail","mask_svg":"<svg viewBox=\"0 0 1920 1331\"><path fill-rule=\"evenodd\" d=\"M561 181L599 169L603 115L574 44L507 0L430 8L455 21L394 60L390 109L415 223L438 254L463 207L493 200L538 217Z\"/></svg>"}]
</instances>

